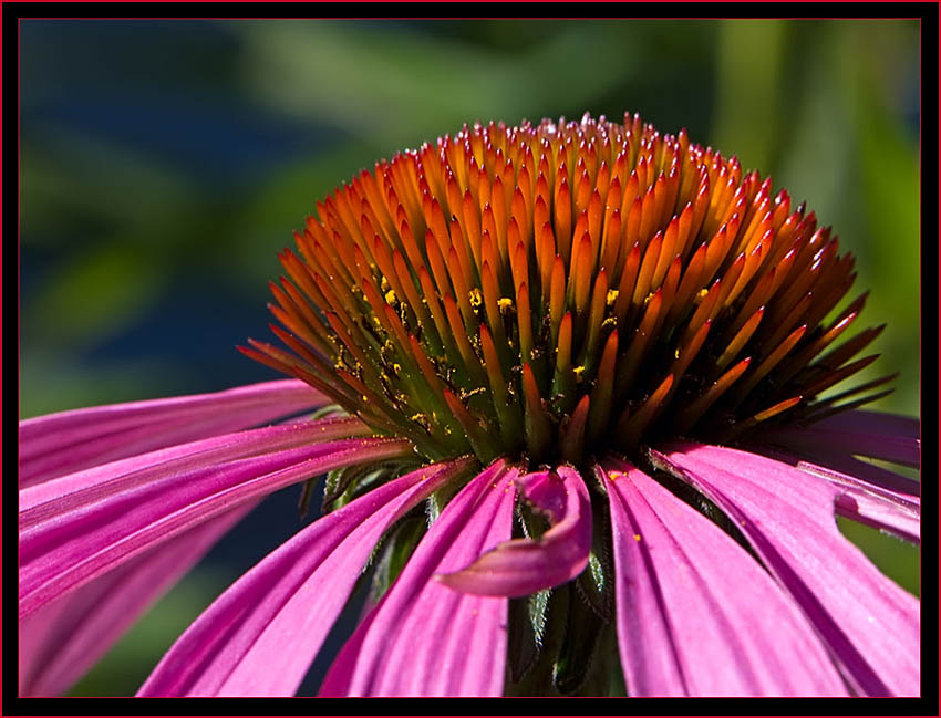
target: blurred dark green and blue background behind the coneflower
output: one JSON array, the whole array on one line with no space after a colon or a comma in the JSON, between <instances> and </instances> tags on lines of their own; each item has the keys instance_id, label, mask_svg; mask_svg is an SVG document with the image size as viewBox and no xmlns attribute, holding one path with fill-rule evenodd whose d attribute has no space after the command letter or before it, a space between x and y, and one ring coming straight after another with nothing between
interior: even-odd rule
<instances>
[{"instance_id":1,"label":"blurred dark green and blue background behind the coneflower","mask_svg":"<svg viewBox=\"0 0 941 718\"><path fill-rule=\"evenodd\" d=\"M586 111L686 127L806 199L857 257L864 325L889 323L867 376L900 376L877 406L919 415L914 21L34 20L20 43L23 418L275 378L235 345L269 337L276 252L317 199L465 122ZM136 689L297 530L296 499L269 500L76 691ZM846 530L918 592L916 549Z\"/></svg>"}]
</instances>

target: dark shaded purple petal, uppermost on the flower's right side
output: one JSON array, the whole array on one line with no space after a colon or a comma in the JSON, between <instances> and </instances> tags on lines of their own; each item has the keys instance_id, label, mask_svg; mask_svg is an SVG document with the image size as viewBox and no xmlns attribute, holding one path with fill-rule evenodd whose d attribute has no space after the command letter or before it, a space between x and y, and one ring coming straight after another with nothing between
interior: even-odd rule
<instances>
[{"instance_id":1,"label":"dark shaded purple petal, uppermost on the flower's right side","mask_svg":"<svg viewBox=\"0 0 941 718\"><path fill-rule=\"evenodd\" d=\"M840 412L807 427L786 427L767 434L794 449L855 454L906 466L921 464L921 423L879 412Z\"/></svg>"}]
</instances>

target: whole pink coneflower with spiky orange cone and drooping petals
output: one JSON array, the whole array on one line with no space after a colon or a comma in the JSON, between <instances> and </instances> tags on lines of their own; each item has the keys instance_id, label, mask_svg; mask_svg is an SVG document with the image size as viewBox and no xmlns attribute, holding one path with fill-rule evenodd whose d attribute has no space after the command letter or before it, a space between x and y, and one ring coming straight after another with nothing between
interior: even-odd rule
<instances>
[{"instance_id":1,"label":"whole pink coneflower with spiky orange cone and drooping petals","mask_svg":"<svg viewBox=\"0 0 941 718\"><path fill-rule=\"evenodd\" d=\"M22 693L327 474L139 695L292 695L366 566L321 695L919 694L919 603L835 522L919 541L857 458L918 466L919 424L858 408L891 377L825 394L881 327L838 342L813 212L637 115L465 126L317 210L283 347L241 347L294 378L21 423Z\"/></svg>"}]
</instances>

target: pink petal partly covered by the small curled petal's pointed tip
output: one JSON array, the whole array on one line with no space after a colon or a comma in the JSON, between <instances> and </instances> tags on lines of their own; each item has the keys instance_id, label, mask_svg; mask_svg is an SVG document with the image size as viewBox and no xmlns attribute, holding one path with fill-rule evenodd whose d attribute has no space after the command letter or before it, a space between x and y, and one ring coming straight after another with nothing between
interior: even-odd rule
<instances>
[{"instance_id":1,"label":"pink petal partly covered by the small curled petal's pointed tip","mask_svg":"<svg viewBox=\"0 0 941 718\"><path fill-rule=\"evenodd\" d=\"M507 599L458 593L433 576L509 538L514 478L516 470L498 460L451 500L341 649L321 696L503 693Z\"/></svg>"}]
</instances>

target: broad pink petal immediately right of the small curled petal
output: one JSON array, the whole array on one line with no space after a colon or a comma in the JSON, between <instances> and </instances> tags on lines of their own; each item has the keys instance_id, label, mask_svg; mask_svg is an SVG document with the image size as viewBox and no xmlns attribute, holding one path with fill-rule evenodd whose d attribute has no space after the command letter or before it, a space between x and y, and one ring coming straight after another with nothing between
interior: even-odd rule
<instances>
[{"instance_id":1,"label":"broad pink petal immediately right of the small curled petal","mask_svg":"<svg viewBox=\"0 0 941 718\"><path fill-rule=\"evenodd\" d=\"M847 695L799 608L747 552L630 464L604 469L631 696Z\"/></svg>"}]
</instances>

